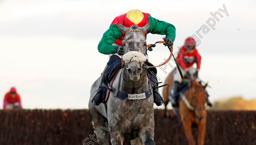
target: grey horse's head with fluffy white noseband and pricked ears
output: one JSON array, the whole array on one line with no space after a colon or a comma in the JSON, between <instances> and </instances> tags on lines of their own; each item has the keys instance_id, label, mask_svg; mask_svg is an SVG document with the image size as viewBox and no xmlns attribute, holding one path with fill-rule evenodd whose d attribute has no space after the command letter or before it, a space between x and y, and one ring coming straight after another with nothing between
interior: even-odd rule
<instances>
[{"instance_id":1,"label":"grey horse's head with fluffy white noseband and pricked ears","mask_svg":"<svg viewBox=\"0 0 256 145\"><path fill-rule=\"evenodd\" d=\"M127 28L121 24L119 29L126 34L123 39L124 52L123 60L126 63L126 70L130 80L138 81L142 72L142 65L146 61L146 38L145 35L150 27L147 23L144 27L133 25Z\"/></svg>"}]
</instances>

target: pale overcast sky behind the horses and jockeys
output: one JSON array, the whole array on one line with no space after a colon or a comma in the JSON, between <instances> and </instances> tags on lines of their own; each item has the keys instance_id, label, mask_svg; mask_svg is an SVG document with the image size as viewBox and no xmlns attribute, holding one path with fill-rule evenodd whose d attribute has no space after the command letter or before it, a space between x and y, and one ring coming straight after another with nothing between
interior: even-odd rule
<instances>
[{"instance_id":1,"label":"pale overcast sky behind the horses and jockeys","mask_svg":"<svg viewBox=\"0 0 256 145\"><path fill-rule=\"evenodd\" d=\"M223 4L229 16L219 10L224 10ZM207 34L201 32L197 49L202 57L199 77L211 86L207 89L210 100L256 97L253 0L0 0L0 108L12 86L17 88L23 108L88 108L91 85L108 61L108 55L98 52L98 42L116 16L132 9L173 24L174 51L201 26L208 26ZM213 30L206 21L213 18L210 12L217 11L223 17L217 16ZM162 37L148 34L147 43ZM159 65L169 57L168 52L157 45L149 52L150 62ZM170 66L165 69L171 70ZM158 68L161 81L167 74Z\"/></svg>"}]
</instances>

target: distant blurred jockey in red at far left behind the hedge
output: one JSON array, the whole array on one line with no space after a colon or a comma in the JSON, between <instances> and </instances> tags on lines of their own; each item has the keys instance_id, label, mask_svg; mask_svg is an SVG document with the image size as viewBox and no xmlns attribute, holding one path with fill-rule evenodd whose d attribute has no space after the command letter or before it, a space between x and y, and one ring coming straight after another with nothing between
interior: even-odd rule
<instances>
[{"instance_id":1,"label":"distant blurred jockey in red at far left behind the hedge","mask_svg":"<svg viewBox=\"0 0 256 145\"><path fill-rule=\"evenodd\" d=\"M4 109L21 108L20 95L16 93L15 87L5 95Z\"/></svg>"}]
</instances>

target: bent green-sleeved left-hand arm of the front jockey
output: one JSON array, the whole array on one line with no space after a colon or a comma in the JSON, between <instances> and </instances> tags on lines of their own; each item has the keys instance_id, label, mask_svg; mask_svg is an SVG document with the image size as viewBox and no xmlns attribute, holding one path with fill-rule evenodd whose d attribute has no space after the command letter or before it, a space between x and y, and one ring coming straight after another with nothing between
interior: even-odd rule
<instances>
[{"instance_id":1,"label":"bent green-sleeved left-hand arm of the front jockey","mask_svg":"<svg viewBox=\"0 0 256 145\"><path fill-rule=\"evenodd\" d=\"M116 24L110 25L109 29L103 34L98 51L102 54L115 54L117 46L112 45L117 39L122 37L122 33Z\"/></svg>"}]
</instances>

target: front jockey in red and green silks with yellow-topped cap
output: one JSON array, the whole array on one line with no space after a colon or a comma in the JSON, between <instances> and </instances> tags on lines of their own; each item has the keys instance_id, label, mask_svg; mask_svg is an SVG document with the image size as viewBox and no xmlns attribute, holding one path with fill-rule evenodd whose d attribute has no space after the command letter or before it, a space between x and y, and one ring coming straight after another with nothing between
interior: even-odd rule
<instances>
[{"instance_id":1,"label":"front jockey in red and green silks with yellow-topped cap","mask_svg":"<svg viewBox=\"0 0 256 145\"><path fill-rule=\"evenodd\" d=\"M148 29L148 33L151 34L160 34L166 35L166 43L165 46L171 46L175 39L175 27L172 24L166 23L164 21L160 21L151 17L150 14L140 12L138 10L131 10L123 15L117 16L113 22L111 23L109 29L103 34L101 41L98 44L98 51L102 54L109 55L109 61L105 66L101 74L100 85L105 82L105 72L108 69L108 66L111 65L116 60L121 61L121 56L124 54L124 46L123 46L123 38L125 34L121 32L118 27L118 23L122 24L125 27L131 27L132 25L137 25L139 27L145 26L148 22L150 22L150 28ZM145 37L147 37L145 34ZM147 59L148 56L146 55ZM158 84L151 82L151 84L156 87ZM95 105L99 105L102 102L103 91L99 87L92 101ZM154 102L157 106L162 105L163 97L160 95L158 89L153 89Z\"/></svg>"}]
</instances>

